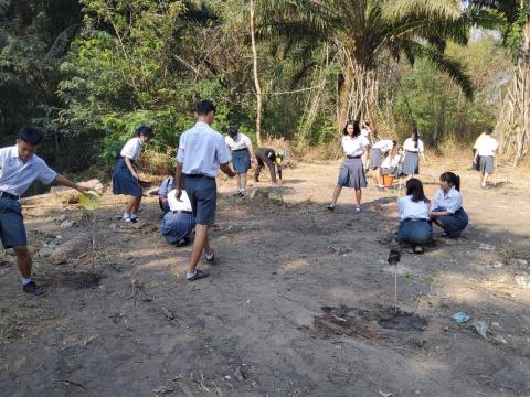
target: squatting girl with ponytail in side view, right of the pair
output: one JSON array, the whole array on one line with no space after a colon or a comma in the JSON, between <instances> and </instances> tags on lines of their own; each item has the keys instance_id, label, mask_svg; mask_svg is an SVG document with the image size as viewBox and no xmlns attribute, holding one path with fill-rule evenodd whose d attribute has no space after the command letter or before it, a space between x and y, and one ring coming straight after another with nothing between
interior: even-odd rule
<instances>
[{"instance_id":1,"label":"squatting girl with ponytail in side view, right of the pair","mask_svg":"<svg viewBox=\"0 0 530 397\"><path fill-rule=\"evenodd\" d=\"M436 225L444 229L446 237L460 237L469 222L463 207L460 176L453 172L444 172L439 175L439 189L434 195L428 215Z\"/></svg>"}]
</instances>

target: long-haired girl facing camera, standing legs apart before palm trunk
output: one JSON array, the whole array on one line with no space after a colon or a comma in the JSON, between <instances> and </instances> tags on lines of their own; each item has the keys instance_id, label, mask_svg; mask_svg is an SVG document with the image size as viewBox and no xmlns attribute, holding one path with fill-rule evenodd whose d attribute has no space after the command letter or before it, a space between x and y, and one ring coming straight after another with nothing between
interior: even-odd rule
<instances>
[{"instance_id":1,"label":"long-haired girl facing camera, standing legs apart before palm trunk","mask_svg":"<svg viewBox=\"0 0 530 397\"><path fill-rule=\"evenodd\" d=\"M339 181L333 192L333 200L327 206L329 211L335 211L335 205L339 198L342 187L353 187L356 190L356 213L361 212L362 187L367 187L367 178L364 176L364 167L362 164L362 154L370 146L367 137L361 135L359 121L348 121L342 131L342 149L346 159L340 165Z\"/></svg>"}]
</instances>

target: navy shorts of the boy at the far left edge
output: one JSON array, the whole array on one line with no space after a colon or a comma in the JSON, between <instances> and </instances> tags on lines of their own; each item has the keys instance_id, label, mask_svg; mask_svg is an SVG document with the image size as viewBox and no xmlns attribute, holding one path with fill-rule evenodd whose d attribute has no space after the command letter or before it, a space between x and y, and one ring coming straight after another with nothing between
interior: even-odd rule
<instances>
[{"instance_id":1,"label":"navy shorts of the boy at the far left edge","mask_svg":"<svg viewBox=\"0 0 530 397\"><path fill-rule=\"evenodd\" d=\"M6 249L28 245L24 218L17 200L0 197L0 238Z\"/></svg>"}]
</instances>

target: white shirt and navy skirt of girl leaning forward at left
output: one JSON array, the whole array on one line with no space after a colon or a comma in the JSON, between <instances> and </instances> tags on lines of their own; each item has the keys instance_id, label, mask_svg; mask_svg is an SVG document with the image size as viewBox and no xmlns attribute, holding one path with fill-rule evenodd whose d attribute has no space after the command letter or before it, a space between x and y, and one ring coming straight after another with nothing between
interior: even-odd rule
<instances>
[{"instance_id":1,"label":"white shirt and navy skirt of girl leaning forward at left","mask_svg":"<svg viewBox=\"0 0 530 397\"><path fill-rule=\"evenodd\" d=\"M113 193L125 194L134 197L141 197L142 190L138 179L132 176L125 158L132 163L138 160L141 152L142 142L139 137L131 138L127 141L120 152L120 158L116 161L113 174Z\"/></svg>"}]
</instances>

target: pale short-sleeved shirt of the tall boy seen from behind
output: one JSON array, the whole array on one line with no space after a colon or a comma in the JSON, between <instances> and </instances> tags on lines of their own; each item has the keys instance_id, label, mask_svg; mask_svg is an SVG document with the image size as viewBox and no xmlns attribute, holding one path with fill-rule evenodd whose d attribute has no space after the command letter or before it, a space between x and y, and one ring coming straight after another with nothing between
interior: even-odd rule
<instances>
[{"instance_id":1,"label":"pale short-sleeved shirt of the tall boy seen from behind","mask_svg":"<svg viewBox=\"0 0 530 397\"><path fill-rule=\"evenodd\" d=\"M197 122L182 133L177 152L177 161L182 164L184 174L218 176L219 165L232 160L224 138L206 122Z\"/></svg>"}]
</instances>

